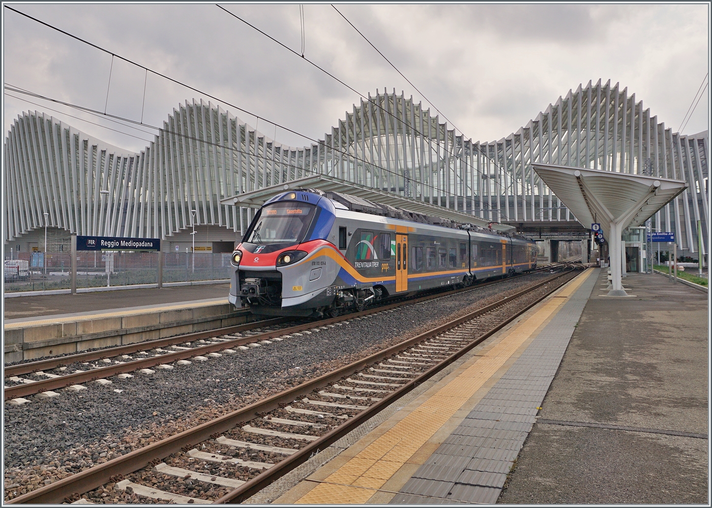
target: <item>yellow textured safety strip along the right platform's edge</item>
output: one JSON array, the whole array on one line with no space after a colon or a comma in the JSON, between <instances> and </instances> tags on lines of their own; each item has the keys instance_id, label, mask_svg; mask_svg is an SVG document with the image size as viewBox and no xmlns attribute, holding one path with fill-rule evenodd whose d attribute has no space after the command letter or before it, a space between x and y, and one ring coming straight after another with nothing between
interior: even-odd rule
<instances>
[{"instance_id":1,"label":"yellow textured safety strip along the right platform's edge","mask_svg":"<svg viewBox=\"0 0 712 508\"><path fill-rule=\"evenodd\" d=\"M556 296L572 295L591 272L587 270ZM535 314L513 329L462 374L440 388L295 503L367 502L373 492L358 487L380 489L565 301L565 298L551 298L545 302Z\"/></svg>"}]
</instances>

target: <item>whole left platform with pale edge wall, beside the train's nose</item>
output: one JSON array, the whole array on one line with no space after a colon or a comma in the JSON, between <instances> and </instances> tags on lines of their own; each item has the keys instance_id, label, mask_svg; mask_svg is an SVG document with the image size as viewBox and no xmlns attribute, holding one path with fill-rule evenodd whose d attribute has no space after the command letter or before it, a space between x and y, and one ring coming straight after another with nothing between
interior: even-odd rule
<instances>
[{"instance_id":1,"label":"whole left platform with pale edge wall, beside the train's nose","mask_svg":"<svg viewBox=\"0 0 712 508\"><path fill-rule=\"evenodd\" d=\"M227 300L229 284L140 288L4 300L4 361L204 332L253 321Z\"/></svg>"}]
</instances>

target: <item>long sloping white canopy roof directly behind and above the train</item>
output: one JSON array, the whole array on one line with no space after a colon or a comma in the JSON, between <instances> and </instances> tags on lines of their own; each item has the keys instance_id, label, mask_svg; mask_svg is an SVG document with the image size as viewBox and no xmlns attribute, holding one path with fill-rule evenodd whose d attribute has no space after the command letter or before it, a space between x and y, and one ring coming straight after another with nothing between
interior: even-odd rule
<instances>
[{"instance_id":1,"label":"long sloping white canopy roof directly behind and above the train","mask_svg":"<svg viewBox=\"0 0 712 508\"><path fill-rule=\"evenodd\" d=\"M490 223L484 219L470 215L469 213L465 213L463 211L452 210L451 208L445 208L444 206L431 205L430 203L426 203L424 201L405 198L397 194L391 194L389 192L380 191L379 189L373 189L372 187L354 184L350 181L345 181L325 174L305 176L300 179L284 182L283 184L263 187L262 189L257 189L256 191L244 192L243 194L237 194L236 196L222 199L220 203L224 205L259 208L273 196L281 194L284 191L288 191L289 189L319 189L324 192L339 192L367 199L373 203L423 213L426 216L444 218L459 223L474 224L475 226L481 226L483 228L490 227L494 231L513 231L515 229L513 226L507 226L506 224Z\"/></svg>"}]
</instances>

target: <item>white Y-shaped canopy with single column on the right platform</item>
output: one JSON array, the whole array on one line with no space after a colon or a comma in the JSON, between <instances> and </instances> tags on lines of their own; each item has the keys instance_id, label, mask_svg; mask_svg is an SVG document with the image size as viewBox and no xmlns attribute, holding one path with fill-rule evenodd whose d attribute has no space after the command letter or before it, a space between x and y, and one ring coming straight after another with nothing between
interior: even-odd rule
<instances>
[{"instance_id":1,"label":"white Y-shaped canopy with single column on the right platform","mask_svg":"<svg viewBox=\"0 0 712 508\"><path fill-rule=\"evenodd\" d=\"M600 223L610 247L612 290L609 295L627 296L621 283L625 261L622 231L629 226L642 226L684 191L686 182L554 164L533 163L532 167L580 223L587 228L592 223Z\"/></svg>"}]
</instances>

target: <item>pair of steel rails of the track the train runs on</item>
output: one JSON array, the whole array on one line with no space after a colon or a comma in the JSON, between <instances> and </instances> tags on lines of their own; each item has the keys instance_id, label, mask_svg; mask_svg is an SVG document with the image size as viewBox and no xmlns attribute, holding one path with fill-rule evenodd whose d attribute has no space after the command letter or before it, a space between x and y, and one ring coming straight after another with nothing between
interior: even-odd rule
<instances>
[{"instance_id":1,"label":"pair of steel rails of the track the train runs on","mask_svg":"<svg viewBox=\"0 0 712 508\"><path fill-rule=\"evenodd\" d=\"M520 278L524 277L525 275L529 274L522 274L518 275L517 277L510 277L508 280L513 280L513 278ZM65 388L66 386L70 386L73 384L80 384L80 383L86 383L88 381L95 381L97 379L102 379L110 376L117 376L118 374L124 374L125 372L133 372L137 371L140 369L149 369L150 367L161 365L161 364L166 364L166 363L172 363L173 361L178 361L178 360L184 360L184 359L189 359L192 356L199 356L201 354L209 354L209 353L216 353L218 351L221 351L223 349L229 349L231 346L244 346L245 344L253 344L255 342L260 342L261 340L265 339L271 339L273 337L279 337L281 335L288 335L288 334L293 334L295 332L303 332L304 330L308 330L314 327L318 326L324 326L325 324L333 324L336 322L342 322L346 321L348 319L354 319L356 317L362 317L366 316L369 314L376 314L378 312L383 312L384 310L389 310L389 309L395 309L397 307L402 307L404 305L413 305L419 302L423 302L426 300L434 300L435 298L439 297L446 297L449 295L454 295L455 293L458 292L464 292L464 291L470 291L477 289L478 287L484 287L486 285L492 285L501 282L501 280L491 280L488 282L484 282L483 284L476 285L474 287L468 286L464 288L460 288L457 290L452 290L452 291L447 291L447 292L436 292L431 295L426 295L423 297L418 297L418 298L412 298L412 299L407 299L407 300L402 300L399 302L395 302L389 305L382 305L379 307L373 307L371 309L366 309L362 312L355 312L351 314L343 314L342 316L337 316L337 317L332 317L329 319L322 319L320 321L315 321L315 322L310 322L306 324L298 324L294 327L288 327L288 328L283 328L279 330L275 330L273 332L265 332L263 334L257 334L257 335L252 335L251 337L244 337L241 339L232 339L230 341L226 342L221 342L220 344L208 344L206 346L198 346L186 351L175 351L167 354L162 354L160 356L151 356L149 358L145 359L139 359L139 360L134 360L134 361L128 361L123 364L113 364L110 366L105 366L105 367L100 367L98 369L91 369L90 371L86 372L78 372L75 374L67 374L65 376L60 376L58 378L51 378L51 379L43 379L41 381L33 381L32 383L25 383L25 384L20 384L16 386L8 386L4 389L4 401L9 401L13 398L17 397L24 397L24 396L30 396L35 393L41 393L43 391L52 391L60 388ZM261 328L265 326L269 326L268 322L271 322L271 324L277 324L278 320L282 320L281 322L288 322L288 320L291 318L285 318L285 317L280 317L276 319L268 319L266 321L262 322L253 322L249 323L248 325L255 324L255 326L251 328ZM261 324L258 324L261 323ZM127 354L122 351L125 349L129 349L131 352L135 351L145 351L146 349L155 349L156 347L162 347L162 345L170 345L170 344L181 344L183 342L193 342L195 340L200 340L200 339L207 339L210 337L215 337L216 335L225 335L229 333L234 333L236 331L239 331L238 329L243 329L242 327L245 327L246 325L238 325L236 327L227 327L227 328L221 328L221 329L214 329L211 331L206 331L206 332L196 332L193 334L187 334L187 335L182 335L182 336L177 336L177 337L172 337L170 339L158 339L155 341L150 341L150 342L138 342L136 344L130 344L127 346L119 346L116 348L110 348L110 349L102 349L99 351L90 351L90 353L82 353L82 354L76 354L76 355L71 355L71 356L61 356L60 358L57 359L48 359L48 360L42 360L42 361L37 361L37 362L32 362L28 364L20 364L19 366L14 366L14 367L23 367L24 369L21 370L21 374L26 374L28 372L32 371L38 371L42 369L51 369L52 365L58 366L58 365L63 365L63 364L71 364L75 363L77 361L88 361L88 359L100 359L100 358L107 358L110 356L118 356L120 354ZM250 329L250 328L248 328ZM68 361L70 360L70 361ZM20 373L20 369L17 371L10 371L11 368L5 369L5 376L9 375L14 375L16 376L17 374Z\"/></svg>"}]
</instances>

